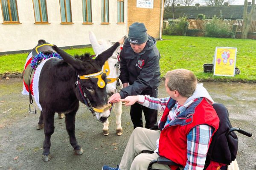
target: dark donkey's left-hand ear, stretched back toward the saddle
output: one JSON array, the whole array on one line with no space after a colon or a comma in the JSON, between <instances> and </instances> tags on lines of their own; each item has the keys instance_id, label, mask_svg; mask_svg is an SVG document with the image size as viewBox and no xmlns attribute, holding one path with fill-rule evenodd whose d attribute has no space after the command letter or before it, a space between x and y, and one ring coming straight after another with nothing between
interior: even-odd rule
<instances>
[{"instance_id":1,"label":"dark donkey's left-hand ear, stretched back toward the saddle","mask_svg":"<svg viewBox=\"0 0 256 170\"><path fill-rule=\"evenodd\" d=\"M69 65L73 66L75 69L81 69L82 62L79 59L76 59L70 54L67 54L65 51L61 50L61 48L58 48L56 45L52 46L52 49L55 50L65 62L67 62Z\"/></svg>"}]
</instances>

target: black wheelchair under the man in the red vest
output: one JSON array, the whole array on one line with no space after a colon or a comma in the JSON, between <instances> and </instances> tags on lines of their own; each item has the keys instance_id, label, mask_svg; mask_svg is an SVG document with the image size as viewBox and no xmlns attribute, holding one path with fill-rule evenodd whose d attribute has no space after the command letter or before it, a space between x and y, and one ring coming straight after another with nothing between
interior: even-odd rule
<instances>
[{"instance_id":1,"label":"black wheelchair under the man in the red vest","mask_svg":"<svg viewBox=\"0 0 256 170\"><path fill-rule=\"evenodd\" d=\"M238 148L238 138L236 136L236 133L234 131L237 131L243 135L246 135L248 137L251 137L252 136L252 133L250 132L247 132L243 129L240 129L240 128L236 128L236 127L232 127L231 126L231 123L230 123L230 120L228 118L228 111L227 111L227 108L221 104L221 103L214 103L212 105L212 107L215 109L219 119L220 119L220 123L219 123L219 127L222 127L221 129L222 130L217 130L215 132L215 134L212 136L212 141L214 138L218 139L218 136L221 136L221 135L224 135L227 139L227 143L224 144L224 143L221 143L219 142L218 143L218 140L215 140L216 142L213 143L211 142L210 146L209 146L209 150L208 150L208 153L207 153L207 159L206 159L206 163L205 163L205 166L204 166L204 170L207 169L207 167L209 166L210 164L210 161L215 161L215 162L219 162L221 164L226 164L226 166L222 166L220 168L220 170L227 170L227 165L230 164L232 161L234 161L236 159L236 154L237 154L237 148ZM225 130L223 130L223 128ZM157 130L158 129L158 125L155 124L154 127L151 128L152 130ZM230 143L230 140L232 140L232 143ZM230 153L227 155L225 153L225 151L227 150L221 150L221 147L218 148L218 145L225 145L227 147L227 150L229 151L230 150ZM217 147L216 147L217 146ZM232 148L232 150L230 149ZM216 151L219 153L219 154L215 154ZM148 151L148 150L143 150L142 153L152 153L151 151ZM231 157L230 157L231 155ZM176 170L180 170L179 167L182 167L181 165L163 157L163 156L160 156L157 158L157 160L154 160L154 161L151 161L151 163L148 165L148 170L159 170L159 169L153 169L152 168L152 165L154 163L158 163L158 164L166 164L166 165L173 165L173 166L177 166L177 169Z\"/></svg>"}]
</instances>

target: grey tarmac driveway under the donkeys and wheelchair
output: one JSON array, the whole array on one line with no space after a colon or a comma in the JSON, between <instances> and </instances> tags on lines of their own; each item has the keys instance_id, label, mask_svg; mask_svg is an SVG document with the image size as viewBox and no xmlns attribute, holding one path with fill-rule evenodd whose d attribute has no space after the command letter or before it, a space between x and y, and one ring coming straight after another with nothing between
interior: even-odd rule
<instances>
[{"instance_id":1,"label":"grey tarmac driveway under the donkeys and wheelchair","mask_svg":"<svg viewBox=\"0 0 256 170\"><path fill-rule=\"evenodd\" d=\"M51 138L50 161L42 161L44 131L36 130L39 113L28 113L29 96L21 94L20 78L0 79L0 170L101 170L104 164L116 166L133 130L129 107L123 105L122 136L115 133L114 113L110 117L110 133L104 136L102 124L80 105L76 115L76 137L84 150L80 156L73 152L65 129L64 119L55 115L55 132ZM215 102L224 103L233 127L253 133L237 133L240 170L255 170L256 162L256 84L203 82ZM164 81L159 97L165 97ZM37 109L39 112L39 109ZM160 119L159 113L158 119Z\"/></svg>"}]
</instances>

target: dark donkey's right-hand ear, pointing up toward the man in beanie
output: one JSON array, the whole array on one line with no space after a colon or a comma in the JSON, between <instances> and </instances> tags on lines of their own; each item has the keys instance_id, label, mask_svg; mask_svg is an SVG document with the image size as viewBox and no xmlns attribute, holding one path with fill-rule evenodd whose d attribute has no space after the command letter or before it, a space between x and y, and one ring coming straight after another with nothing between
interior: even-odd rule
<instances>
[{"instance_id":1,"label":"dark donkey's right-hand ear, pointing up toward the man in beanie","mask_svg":"<svg viewBox=\"0 0 256 170\"><path fill-rule=\"evenodd\" d=\"M111 48L108 48L106 51L102 52L98 55L98 57L96 57L95 60L100 67L104 65L105 61L107 61L107 59L112 56L113 52L116 51L116 48L118 48L119 46L120 42L116 42L114 43L114 45L112 45Z\"/></svg>"}]
</instances>

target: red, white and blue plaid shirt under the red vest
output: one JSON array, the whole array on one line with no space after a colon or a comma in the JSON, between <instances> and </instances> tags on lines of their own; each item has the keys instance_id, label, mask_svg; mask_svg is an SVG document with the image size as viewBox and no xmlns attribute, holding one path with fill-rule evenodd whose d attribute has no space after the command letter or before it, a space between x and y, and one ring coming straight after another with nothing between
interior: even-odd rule
<instances>
[{"instance_id":1,"label":"red, white and blue plaid shirt under the red vest","mask_svg":"<svg viewBox=\"0 0 256 170\"><path fill-rule=\"evenodd\" d=\"M147 95L139 97L140 99L138 103L151 109L157 109L159 111L165 110L167 102L170 99L170 97L154 98ZM193 100L192 102L195 102L195 100ZM192 102L190 102L187 107L183 107L183 109L186 110L186 108L188 108L192 104ZM177 111L177 109L181 107L182 105L176 102L174 108L175 111L171 110L169 112L167 122L172 121L176 118L176 116L179 114L179 111ZM212 132L212 127L208 125L198 125L190 130L189 134L187 135L187 162L184 170L204 169Z\"/></svg>"}]
</instances>

